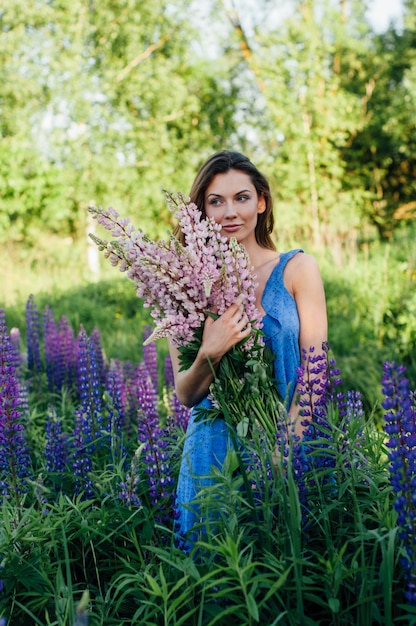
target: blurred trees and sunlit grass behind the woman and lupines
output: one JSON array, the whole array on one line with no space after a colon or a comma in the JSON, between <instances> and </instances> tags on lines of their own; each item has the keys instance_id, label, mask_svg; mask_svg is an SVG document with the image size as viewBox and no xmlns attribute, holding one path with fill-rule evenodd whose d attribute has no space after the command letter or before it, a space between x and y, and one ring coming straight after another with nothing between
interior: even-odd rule
<instances>
[{"instance_id":1,"label":"blurred trees and sunlit grass behind the woman and lupines","mask_svg":"<svg viewBox=\"0 0 416 626\"><path fill-rule=\"evenodd\" d=\"M278 248L320 261L346 384L376 402L393 358L416 380L413 1L383 32L370 0L275 5L3 0L9 325L24 325L34 293L74 325L96 323L110 356L140 351L147 318L132 285L94 257L86 207L112 205L164 236L161 189L187 192L202 161L230 148L271 181Z\"/></svg>"}]
</instances>

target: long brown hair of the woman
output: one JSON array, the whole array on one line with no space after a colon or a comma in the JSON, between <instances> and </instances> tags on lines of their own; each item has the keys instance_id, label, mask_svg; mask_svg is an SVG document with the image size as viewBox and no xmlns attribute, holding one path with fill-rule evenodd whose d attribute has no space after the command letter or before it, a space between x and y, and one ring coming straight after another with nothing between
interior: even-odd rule
<instances>
[{"instance_id":1,"label":"long brown hair of the woman","mask_svg":"<svg viewBox=\"0 0 416 626\"><path fill-rule=\"evenodd\" d=\"M274 217L273 200L270 193L269 183L266 177L256 168L255 165L253 165L250 159L240 152L222 150L221 152L216 152L207 161L205 161L193 182L189 194L191 202L194 202L197 205L198 209L205 218L205 193L207 188L217 174L226 174L230 170L245 172L250 177L258 197L264 198L266 210L258 215L255 229L256 241L262 248L276 250L276 246L271 238L274 226ZM178 227L175 229L175 236L183 243L183 235Z\"/></svg>"}]
</instances>

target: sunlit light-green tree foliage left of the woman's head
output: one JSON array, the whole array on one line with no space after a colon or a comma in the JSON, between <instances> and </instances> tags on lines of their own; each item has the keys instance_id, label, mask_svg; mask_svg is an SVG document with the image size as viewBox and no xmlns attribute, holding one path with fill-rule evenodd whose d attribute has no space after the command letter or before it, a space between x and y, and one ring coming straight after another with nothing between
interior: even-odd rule
<instances>
[{"instance_id":1,"label":"sunlit light-green tree foliage left of the woman's head","mask_svg":"<svg viewBox=\"0 0 416 626\"><path fill-rule=\"evenodd\" d=\"M193 58L188 5L3 3L3 239L40 224L77 235L90 200L151 226L161 187L187 188L204 146L222 144L234 94Z\"/></svg>"}]
</instances>

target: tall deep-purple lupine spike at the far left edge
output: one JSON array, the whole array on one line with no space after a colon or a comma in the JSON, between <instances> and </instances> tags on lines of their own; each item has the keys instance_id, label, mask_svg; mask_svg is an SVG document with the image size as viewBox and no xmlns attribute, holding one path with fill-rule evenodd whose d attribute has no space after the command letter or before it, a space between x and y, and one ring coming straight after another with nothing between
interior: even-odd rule
<instances>
[{"instance_id":1,"label":"tall deep-purple lupine spike at the far left edge","mask_svg":"<svg viewBox=\"0 0 416 626\"><path fill-rule=\"evenodd\" d=\"M16 351L0 309L0 483L3 496L26 491L32 462L22 416L22 386L16 376Z\"/></svg>"}]
</instances>

